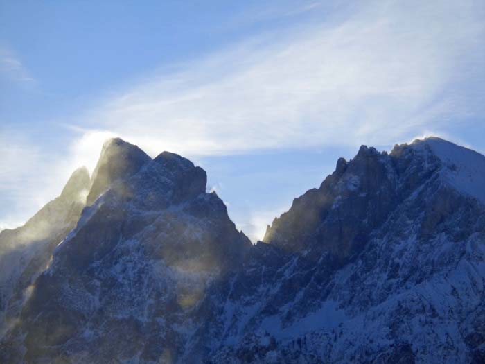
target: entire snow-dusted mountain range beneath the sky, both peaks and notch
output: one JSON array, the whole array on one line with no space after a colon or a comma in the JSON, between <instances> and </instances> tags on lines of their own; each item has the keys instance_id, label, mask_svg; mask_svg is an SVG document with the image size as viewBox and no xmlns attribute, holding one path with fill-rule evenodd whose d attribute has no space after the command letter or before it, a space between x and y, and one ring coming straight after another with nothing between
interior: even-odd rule
<instances>
[{"instance_id":1,"label":"entire snow-dusted mountain range beneath the sky, both peaks and notch","mask_svg":"<svg viewBox=\"0 0 485 364\"><path fill-rule=\"evenodd\" d=\"M485 157L362 146L255 245L179 155L103 146L0 232L1 363L485 363Z\"/></svg>"}]
</instances>

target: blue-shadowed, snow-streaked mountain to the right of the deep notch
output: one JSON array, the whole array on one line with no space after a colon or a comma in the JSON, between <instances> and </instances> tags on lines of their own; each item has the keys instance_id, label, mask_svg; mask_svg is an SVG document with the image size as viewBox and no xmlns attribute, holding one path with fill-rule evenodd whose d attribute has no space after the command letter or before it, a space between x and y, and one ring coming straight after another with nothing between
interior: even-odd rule
<instances>
[{"instance_id":1,"label":"blue-shadowed, snow-streaked mountain to the right of the deep notch","mask_svg":"<svg viewBox=\"0 0 485 364\"><path fill-rule=\"evenodd\" d=\"M280 263L247 261L231 286L257 288L215 304L236 329L211 362L482 363L484 161L440 139L340 160L258 244Z\"/></svg>"}]
</instances>

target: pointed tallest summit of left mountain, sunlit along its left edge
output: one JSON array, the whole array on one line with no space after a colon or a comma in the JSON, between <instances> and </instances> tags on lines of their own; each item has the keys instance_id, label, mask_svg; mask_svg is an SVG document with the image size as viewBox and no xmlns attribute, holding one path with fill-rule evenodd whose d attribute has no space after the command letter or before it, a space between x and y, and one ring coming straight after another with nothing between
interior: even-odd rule
<instances>
[{"instance_id":1,"label":"pointed tallest summit of left mountain, sunlit along its left edge","mask_svg":"<svg viewBox=\"0 0 485 364\"><path fill-rule=\"evenodd\" d=\"M112 182L134 175L151 160L138 146L120 138L107 139L93 172L87 205L92 205Z\"/></svg>"}]
</instances>

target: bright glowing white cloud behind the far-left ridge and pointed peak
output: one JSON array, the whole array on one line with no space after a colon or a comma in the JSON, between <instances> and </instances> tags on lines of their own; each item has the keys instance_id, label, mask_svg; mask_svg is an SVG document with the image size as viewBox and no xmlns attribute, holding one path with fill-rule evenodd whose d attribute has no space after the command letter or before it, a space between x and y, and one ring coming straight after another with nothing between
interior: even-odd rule
<instances>
[{"instance_id":1,"label":"bright glowing white cloud behind the far-left ridge and pointed peak","mask_svg":"<svg viewBox=\"0 0 485 364\"><path fill-rule=\"evenodd\" d=\"M93 171L103 141L114 135L103 130L80 131L65 153L49 154L25 130L0 128L0 230L26 222L55 196L73 171Z\"/></svg>"}]
</instances>

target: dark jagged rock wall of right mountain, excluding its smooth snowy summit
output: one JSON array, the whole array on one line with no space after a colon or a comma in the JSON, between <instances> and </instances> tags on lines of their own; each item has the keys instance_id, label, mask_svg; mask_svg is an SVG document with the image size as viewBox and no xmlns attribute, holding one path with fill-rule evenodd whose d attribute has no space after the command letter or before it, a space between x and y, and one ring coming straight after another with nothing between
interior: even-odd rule
<instances>
[{"instance_id":1,"label":"dark jagged rock wall of right mountain, excluding its smooth snowy summit","mask_svg":"<svg viewBox=\"0 0 485 364\"><path fill-rule=\"evenodd\" d=\"M290 251L317 249L337 260L358 252L389 213L439 168L439 161L412 153L395 157L362 146L319 189L307 191L268 227L266 243ZM424 168L424 165L426 168Z\"/></svg>"}]
</instances>

